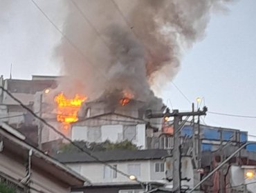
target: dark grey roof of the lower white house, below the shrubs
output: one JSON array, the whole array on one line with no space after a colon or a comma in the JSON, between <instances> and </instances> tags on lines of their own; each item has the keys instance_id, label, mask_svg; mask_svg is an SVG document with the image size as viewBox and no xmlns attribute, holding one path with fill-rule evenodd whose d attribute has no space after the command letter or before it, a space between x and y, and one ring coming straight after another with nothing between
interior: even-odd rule
<instances>
[{"instance_id":1,"label":"dark grey roof of the lower white house, below the shrubs","mask_svg":"<svg viewBox=\"0 0 256 193\"><path fill-rule=\"evenodd\" d=\"M100 161L137 161L163 159L167 156L167 150L110 150L104 152L92 152ZM91 163L95 161L91 156L84 152L62 152L56 154L55 158L62 163Z\"/></svg>"}]
</instances>

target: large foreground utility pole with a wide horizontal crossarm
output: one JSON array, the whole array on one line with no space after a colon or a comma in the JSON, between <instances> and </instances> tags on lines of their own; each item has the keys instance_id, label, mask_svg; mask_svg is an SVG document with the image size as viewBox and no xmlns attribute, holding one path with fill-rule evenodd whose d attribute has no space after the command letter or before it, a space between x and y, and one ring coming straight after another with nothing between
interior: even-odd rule
<instances>
[{"instance_id":1,"label":"large foreground utility pole with a wide horizontal crossarm","mask_svg":"<svg viewBox=\"0 0 256 193\"><path fill-rule=\"evenodd\" d=\"M207 112L207 108L203 107L203 110L197 110L196 112L179 112L179 110L173 110L170 112L169 109L166 110L165 113L156 113L152 114L149 112L147 114L147 118L161 118L161 117L174 117L174 149L173 149L173 159L172 168L173 168L173 191L176 193L181 192L181 128L182 124L180 123L183 119L183 116L201 116L205 115Z\"/></svg>"}]
</instances>

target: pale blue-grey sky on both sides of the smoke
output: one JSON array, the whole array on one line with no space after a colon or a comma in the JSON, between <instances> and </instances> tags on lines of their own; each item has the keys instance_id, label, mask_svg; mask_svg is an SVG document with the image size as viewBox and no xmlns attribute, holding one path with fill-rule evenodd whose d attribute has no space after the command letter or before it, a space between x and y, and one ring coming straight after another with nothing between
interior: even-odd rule
<instances>
[{"instance_id":1,"label":"pale blue-grey sky on both sides of the smoke","mask_svg":"<svg viewBox=\"0 0 256 193\"><path fill-rule=\"evenodd\" d=\"M59 5L58 1L51 2ZM61 28L65 8L39 5ZM255 0L242 0L232 3L228 12L212 15L204 39L185 52L181 70L172 80L188 100L171 81L156 93L170 108L191 110L191 102L201 97L201 107L205 103L209 112L256 116L255 8ZM0 74L10 77L11 63L14 79L60 74L54 49L61 35L31 1L1 0L0 17ZM203 120L256 135L256 119L208 113Z\"/></svg>"}]
</instances>

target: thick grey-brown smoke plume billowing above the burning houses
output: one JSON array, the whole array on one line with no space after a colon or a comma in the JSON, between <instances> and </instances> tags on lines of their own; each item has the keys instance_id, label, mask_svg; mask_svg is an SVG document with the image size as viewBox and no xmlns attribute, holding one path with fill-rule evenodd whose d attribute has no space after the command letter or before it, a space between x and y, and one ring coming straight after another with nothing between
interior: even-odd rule
<instances>
[{"instance_id":1,"label":"thick grey-brown smoke plume billowing above the burning houses","mask_svg":"<svg viewBox=\"0 0 256 193\"><path fill-rule=\"evenodd\" d=\"M128 90L138 100L152 101L152 86L172 80L183 52L203 38L212 10L227 2L68 1L64 34L69 42L62 40L57 56L69 78L60 86L91 100Z\"/></svg>"}]
</instances>

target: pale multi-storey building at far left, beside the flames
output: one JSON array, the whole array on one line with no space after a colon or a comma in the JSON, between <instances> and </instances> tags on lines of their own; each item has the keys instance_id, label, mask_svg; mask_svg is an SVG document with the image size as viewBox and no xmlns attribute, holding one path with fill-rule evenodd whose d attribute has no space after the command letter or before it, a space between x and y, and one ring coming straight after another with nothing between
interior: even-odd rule
<instances>
[{"instance_id":1,"label":"pale multi-storey building at far left, beside the flames","mask_svg":"<svg viewBox=\"0 0 256 193\"><path fill-rule=\"evenodd\" d=\"M28 108L33 109L35 94L45 88L55 87L55 79L57 77L33 76L32 80L19 80L3 79L1 76L0 85ZM0 90L0 118L15 128L31 121L31 115L3 90Z\"/></svg>"}]
</instances>

